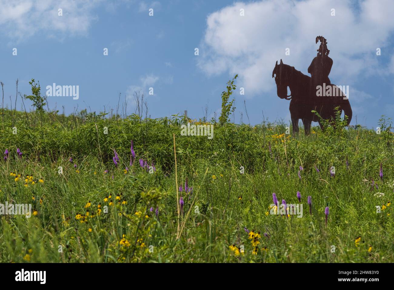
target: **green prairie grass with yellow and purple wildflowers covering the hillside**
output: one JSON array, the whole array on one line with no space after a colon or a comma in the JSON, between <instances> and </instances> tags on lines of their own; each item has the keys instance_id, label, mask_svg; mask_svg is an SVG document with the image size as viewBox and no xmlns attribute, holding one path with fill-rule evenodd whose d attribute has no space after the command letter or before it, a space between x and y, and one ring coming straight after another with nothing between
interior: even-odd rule
<instances>
[{"instance_id":1,"label":"green prairie grass with yellow and purple wildflowers covering the hillside","mask_svg":"<svg viewBox=\"0 0 394 290\"><path fill-rule=\"evenodd\" d=\"M394 206L387 206L394 199L389 131L314 127L310 136L290 137L285 124L227 124L215 125L208 140L180 136L185 120L177 116L103 120L45 113L42 121L39 114L27 116L16 112L14 119L6 110L0 125L0 149L10 151L8 161L0 162L0 203L32 203L37 215L0 216L0 262L394 262ZM137 155L132 167L130 140ZM154 162L156 172L141 168L139 158ZM28 181L26 187L26 175L44 182ZM186 178L193 191L182 193L178 218L176 183L184 187ZM297 191L302 218L266 215L272 193L290 204L298 203ZM113 206L104 201L108 195ZM312 215L307 196L312 196ZM377 213L375 207L383 204ZM76 219L86 211L89 217ZM260 232L256 254L244 228ZM244 253L237 255L232 245L243 246Z\"/></svg>"}]
</instances>

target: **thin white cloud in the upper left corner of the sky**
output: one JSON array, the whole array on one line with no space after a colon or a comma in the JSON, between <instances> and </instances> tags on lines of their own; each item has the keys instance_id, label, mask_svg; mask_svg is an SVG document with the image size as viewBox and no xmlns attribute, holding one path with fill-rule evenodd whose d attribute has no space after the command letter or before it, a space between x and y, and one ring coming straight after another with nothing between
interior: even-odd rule
<instances>
[{"instance_id":1,"label":"thin white cloud in the upper left corner of the sky","mask_svg":"<svg viewBox=\"0 0 394 290\"><path fill-rule=\"evenodd\" d=\"M0 0L2 33L16 41L40 30L49 34L84 35L97 20L93 10L100 2L102 0ZM59 8L63 9L63 16L58 15Z\"/></svg>"}]
</instances>

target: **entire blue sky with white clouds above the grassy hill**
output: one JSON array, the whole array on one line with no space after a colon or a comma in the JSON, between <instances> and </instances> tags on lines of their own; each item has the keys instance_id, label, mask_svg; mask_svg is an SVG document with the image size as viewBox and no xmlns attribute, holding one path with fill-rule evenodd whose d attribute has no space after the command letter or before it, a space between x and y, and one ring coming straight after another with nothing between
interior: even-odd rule
<instances>
[{"instance_id":1,"label":"entire blue sky with white clouds above the grassy hill","mask_svg":"<svg viewBox=\"0 0 394 290\"><path fill-rule=\"evenodd\" d=\"M334 61L331 82L350 87L351 123L357 116L357 123L376 127L380 115L394 117L389 1L0 0L0 6L0 80L8 107L10 95L14 106L15 80L23 95L31 93L34 78L42 94L52 83L79 86L78 100L48 97L51 109L56 105L61 112L64 105L67 114L77 106L116 110L119 93L121 102L129 97L131 114L133 90L153 87L154 95L146 95L152 118L188 110L198 119L206 104L212 117L220 114L227 80L238 73L245 95L238 88L234 94L236 123L241 112L248 122L243 100L252 124L262 122L262 111L270 121L288 122L289 101L277 97L272 69L282 58L307 74L318 48L315 37L323 35ZM17 109L21 104L18 97Z\"/></svg>"}]
</instances>

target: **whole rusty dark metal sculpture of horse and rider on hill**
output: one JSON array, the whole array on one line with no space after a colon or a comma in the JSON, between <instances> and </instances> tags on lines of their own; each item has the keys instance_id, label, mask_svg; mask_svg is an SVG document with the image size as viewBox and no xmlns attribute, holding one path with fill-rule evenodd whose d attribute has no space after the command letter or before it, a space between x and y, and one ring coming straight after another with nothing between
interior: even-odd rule
<instances>
[{"instance_id":1,"label":"whole rusty dark metal sculpture of horse and rider on hill","mask_svg":"<svg viewBox=\"0 0 394 290\"><path fill-rule=\"evenodd\" d=\"M313 122L319 122L323 129L322 123L312 110L318 112L322 119L335 118L335 108L339 107L342 114L348 116L348 125L351 121L352 110L349 99L338 86L331 84L328 75L333 65L333 60L328 57L329 50L324 37L316 37L316 43L320 40L320 48L318 55L312 60L308 68L308 72L312 77L304 75L301 71L297 71L294 67L283 64L282 60L275 64L272 71L272 77L275 77L277 86L277 95L281 99L290 101L290 115L292 119L293 134L298 134L298 121L302 120L305 128L305 135L310 134L310 125ZM331 92L317 94L318 86L321 86L323 92ZM287 87L290 88L290 95L287 95ZM320 91L321 92L321 91Z\"/></svg>"}]
</instances>

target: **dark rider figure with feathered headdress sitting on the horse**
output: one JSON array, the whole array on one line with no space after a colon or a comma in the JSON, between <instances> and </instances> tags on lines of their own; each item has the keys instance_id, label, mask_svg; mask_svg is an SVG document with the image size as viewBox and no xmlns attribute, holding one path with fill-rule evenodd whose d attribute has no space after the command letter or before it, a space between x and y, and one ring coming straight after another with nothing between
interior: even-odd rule
<instances>
[{"instance_id":1,"label":"dark rider figure with feathered headdress sitting on the horse","mask_svg":"<svg viewBox=\"0 0 394 290\"><path fill-rule=\"evenodd\" d=\"M327 49L327 41L323 36L316 37L316 43L320 41L320 47L317 50L317 56L312 60L308 67L308 73L311 76L312 92L316 94L316 86L329 86L331 84L328 75L330 74L333 60L329 58L330 51Z\"/></svg>"}]
</instances>

